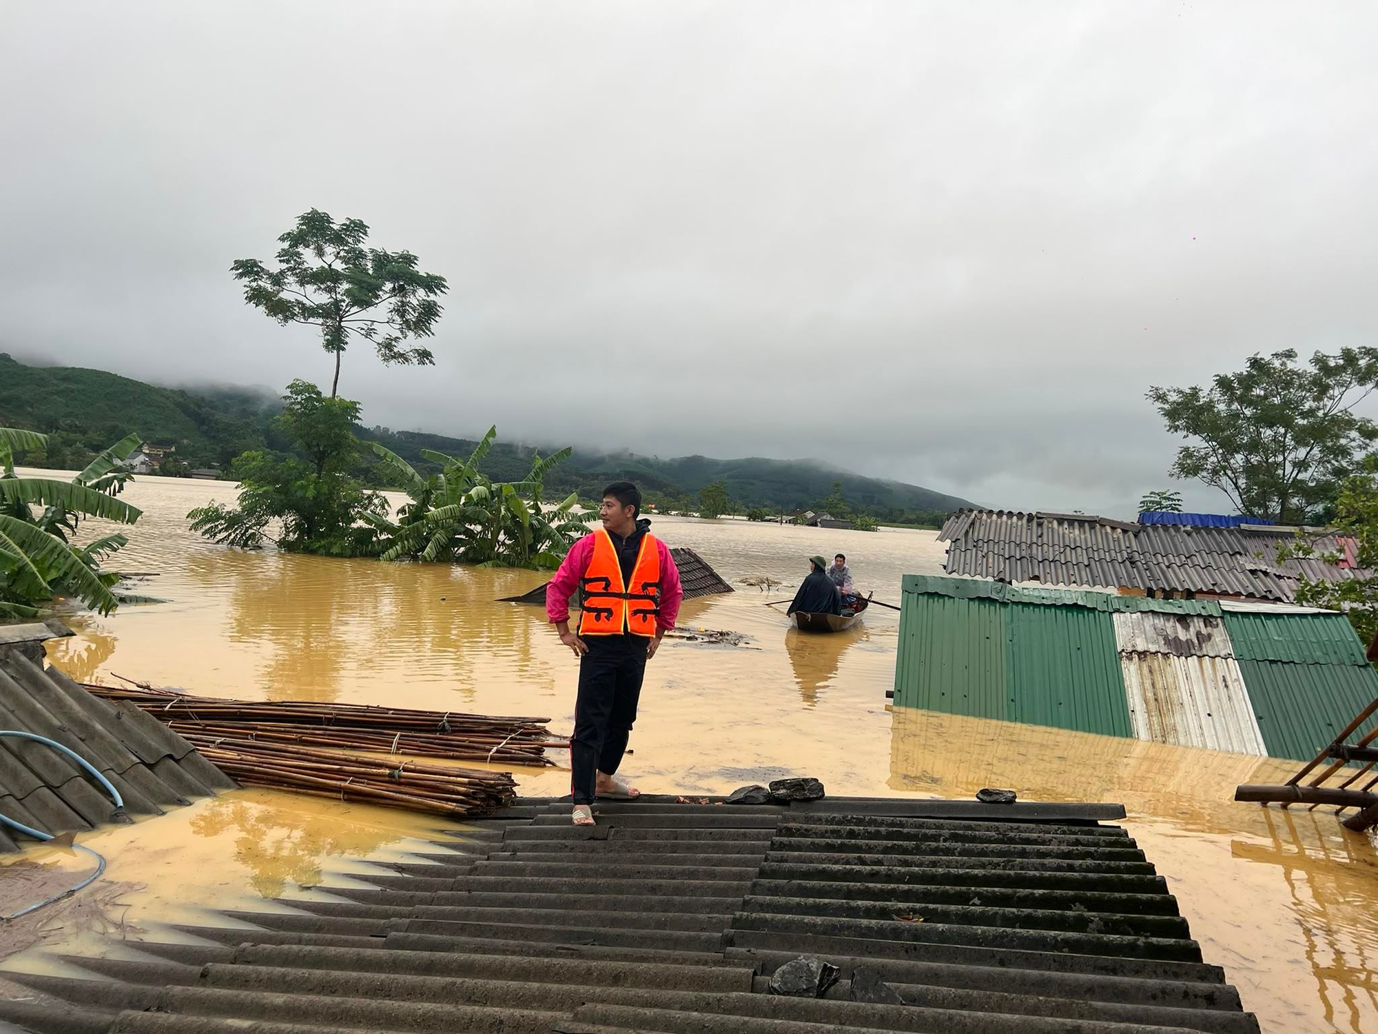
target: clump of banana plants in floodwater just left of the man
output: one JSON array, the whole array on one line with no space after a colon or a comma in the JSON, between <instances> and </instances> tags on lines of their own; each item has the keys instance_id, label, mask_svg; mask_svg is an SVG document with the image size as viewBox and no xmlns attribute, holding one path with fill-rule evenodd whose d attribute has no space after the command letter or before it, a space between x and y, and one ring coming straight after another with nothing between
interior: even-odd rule
<instances>
[{"instance_id":1,"label":"clump of banana plants in floodwater just left of the man","mask_svg":"<svg viewBox=\"0 0 1378 1034\"><path fill-rule=\"evenodd\" d=\"M544 458L537 454L521 481L495 483L478 467L496 436L497 429L489 427L463 460L427 449L427 458L441 465L441 472L429 477L375 443L382 465L411 499L398 509L395 521L367 518L383 536L383 560L559 567L595 516L595 511L575 513L579 506L575 492L555 506L543 502L544 478L569 459L572 449Z\"/></svg>"}]
</instances>

